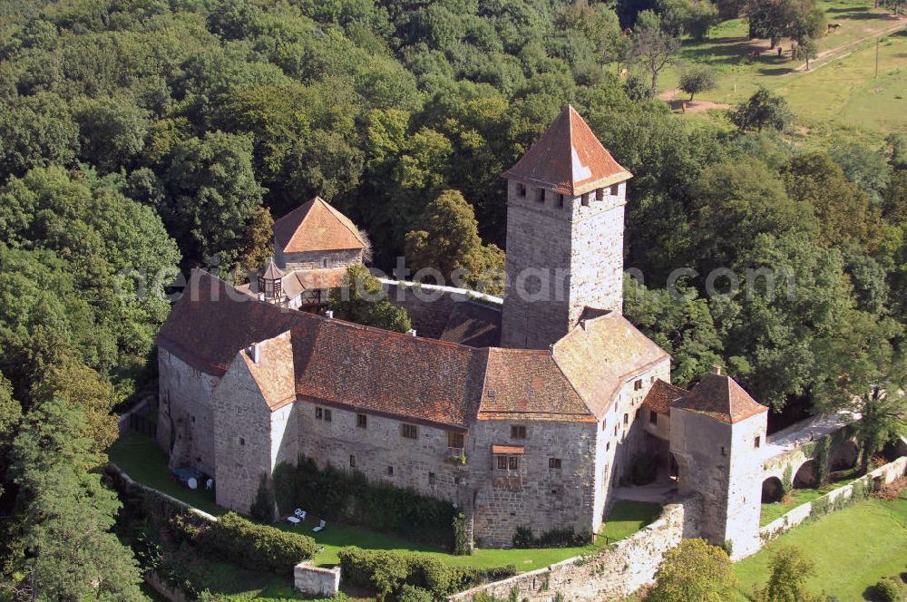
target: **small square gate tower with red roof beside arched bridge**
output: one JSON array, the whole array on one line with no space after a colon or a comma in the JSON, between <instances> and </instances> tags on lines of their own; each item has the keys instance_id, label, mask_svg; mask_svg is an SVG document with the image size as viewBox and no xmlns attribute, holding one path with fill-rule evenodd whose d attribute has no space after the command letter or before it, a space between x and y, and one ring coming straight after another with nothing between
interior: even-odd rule
<instances>
[{"instance_id":1,"label":"small square gate tower with red roof beside arched bridge","mask_svg":"<svg viewBox=\"0 0 907 602\"><path fill-rule=\"evenodd\" d=\"M731 558L759 549L768 408L716 368L671 405L670 449L680 495L703 500L702 536L731 545Z\"/></svg>"}]
</instances>

